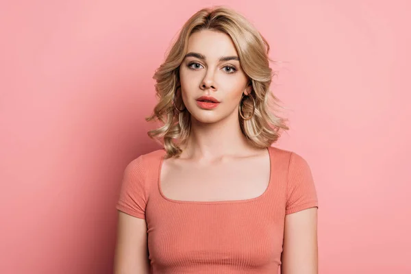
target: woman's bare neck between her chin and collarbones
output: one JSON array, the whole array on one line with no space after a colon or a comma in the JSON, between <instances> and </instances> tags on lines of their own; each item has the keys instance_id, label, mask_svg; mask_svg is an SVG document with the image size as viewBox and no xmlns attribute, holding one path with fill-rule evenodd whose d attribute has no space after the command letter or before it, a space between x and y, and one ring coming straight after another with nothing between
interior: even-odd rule
<instances>
[{"instance_id":1,"label":"woman's bare neck between her chin and collarbones","mask_svg":"<svg viewBox=\"0 0 411 274\"><path fill-rule=\"evenodd\" d=\"M242 134L238 112L216 123L201 123L191 117L191 130L182 157L215 160L252 149Z\"/></svg>"}]
</instances>

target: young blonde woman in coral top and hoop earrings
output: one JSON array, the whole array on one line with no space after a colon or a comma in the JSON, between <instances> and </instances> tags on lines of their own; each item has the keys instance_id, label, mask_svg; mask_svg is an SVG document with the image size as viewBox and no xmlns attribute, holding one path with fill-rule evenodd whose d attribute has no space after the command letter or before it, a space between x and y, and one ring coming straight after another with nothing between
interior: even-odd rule
<instances>
[{"instance_id":1,"label":"young blonde woman in coral top and hoop earrings","mask_svg":"<svg viewBox=\"0 0 411 274\"><path fill-rule=\"evenodd\" d=\"M114 273L318 272L310 167L271 147L288 127L269 110L268 54L228 8L184 25L154 75L164 149L124 172Z\"/></svg>"}]
</instances>

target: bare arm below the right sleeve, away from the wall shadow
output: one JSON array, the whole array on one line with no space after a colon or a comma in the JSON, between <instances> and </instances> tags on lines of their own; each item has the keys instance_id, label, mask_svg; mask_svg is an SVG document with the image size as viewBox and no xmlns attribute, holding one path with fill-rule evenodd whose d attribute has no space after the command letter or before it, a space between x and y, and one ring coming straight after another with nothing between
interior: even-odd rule
<instances>
[{"instance_id":1,"label":"bare arm below the right sleeve, away from the wall shadow","mask_svg":"<svg viewBox=\"0 0 411 274\"><path fill-rule=\"evenodd\" d=\"M282 274L318 274L317 210L286 215Z\"/></svg>"}]
</instances>

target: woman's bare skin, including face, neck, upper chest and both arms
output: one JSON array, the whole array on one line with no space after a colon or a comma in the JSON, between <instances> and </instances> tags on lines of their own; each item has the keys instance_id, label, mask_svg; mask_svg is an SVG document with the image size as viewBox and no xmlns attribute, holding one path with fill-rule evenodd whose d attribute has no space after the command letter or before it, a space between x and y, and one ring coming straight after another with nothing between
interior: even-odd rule
<instances>
[{"instance_id":1,"label":"woman's bare skin, including face, neck, upper chest and both arms","mask_svg":"<svg viewBox=\"0 0 411 274\"><path fill-rule=\"evenodd\" d=\"M260 196L269 182L269 155L249 145L240 130L238 104L251 86L238 60L221 60L238 58L234 43L226 34L203 30L190 36L187 53L179 67L179 98L191 114L191 132L180 157L163 162L162 192L185 201ZM221 103L203 110L196 103L202 95ZM282 274L318 273L316 223L316 208L286 215ZM114 273L149 273L145 220L119 212L117 239Z\"/></svg>"}]
</instances>

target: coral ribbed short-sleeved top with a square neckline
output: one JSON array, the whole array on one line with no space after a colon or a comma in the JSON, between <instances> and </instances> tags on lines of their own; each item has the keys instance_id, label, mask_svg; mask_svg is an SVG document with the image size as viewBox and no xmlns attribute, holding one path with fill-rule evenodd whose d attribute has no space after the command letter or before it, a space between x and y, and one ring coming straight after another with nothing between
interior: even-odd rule
<instances>
[{"instance_id":1,"label":"coral ribbed short-sleeved top with a square neckline","mask_svg":"<svg viewBox=\"0 0 411 274\"><path fill-rule=\"evenodd\" d=\"M159 180L164 150L127 165L116 208L146 220L151 273L277 273L286 214L318 201L306 160L275 147L269 154L264 193L236 201L165 197Z\"/></svg>"}]
</instances>

